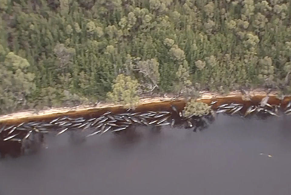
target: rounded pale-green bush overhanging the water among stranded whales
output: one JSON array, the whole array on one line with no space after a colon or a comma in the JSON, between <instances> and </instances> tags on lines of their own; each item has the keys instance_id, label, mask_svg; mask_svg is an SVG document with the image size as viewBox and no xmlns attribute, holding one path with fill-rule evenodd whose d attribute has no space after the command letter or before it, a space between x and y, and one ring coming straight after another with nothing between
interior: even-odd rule
<instances>
[{"instance_id":1,"label":"rounded pale-green bush overhanging the water among stranded whales","mask_svg":"<svg viewBox=\"0 0 291 195\"><path fill-rule=\"evenodd\" d=\"M211 107L203 102L196 102L195 99L191 99L190 102L187 102L186 106L183 109L184 116L204 116L208 115L211 112Z\"/></svg>"}]
</instances>

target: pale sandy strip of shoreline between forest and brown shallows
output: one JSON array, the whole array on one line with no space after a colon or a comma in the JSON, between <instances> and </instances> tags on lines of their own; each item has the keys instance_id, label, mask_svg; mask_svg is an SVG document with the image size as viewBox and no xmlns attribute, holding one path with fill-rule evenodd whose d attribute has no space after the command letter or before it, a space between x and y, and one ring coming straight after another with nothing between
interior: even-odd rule
<instances>
[{"instance_id":1,"label":"pale sandy strip of shoreline between forest and brown shallows","mask_svg":"<svg viewBox=\"0 0 291 195\"><path fill-rule=\"evenodd\" d=\"M229 92L226 95L223 95L221 93L212 93L208 91L200 91L200 96L196 100L199 102L204 102L209 104L212 100L215 99L227 99L227 98L240 98L243 101L250 101L252 98L263 98L266 95L269 95L270 97L273 96L273 98L278 99L276 96L278 94L278 91L272 91L267 94L267 92L263 89L255 89L251 91L245 91L245 94L243 94L241 91L236 90ZM139 99L139 105L137 108L145 107L147 104L159 104L159 103L169 103L175 96L169 95L167 97L147 97L147 98L140 98ZM291 96L284 96L284 100ZM174 102L187 102L187 100L182 97L176 97ZM283 101L283 100L282 100ZM220 102L220 101L219 101ZM78 115L80 113L86 113L86 112L100 112L102 110L121 110L124 109L122 105L115 105L114 103L100 103L99 105L92 106L92 105L79 105L79 106L73 106L73 107L59 107L59 108L50 108L45 110L40 110L36 112L36 110L29 110L29 111L20 111L15 113L9 113L5 115L0 116L0 123L13 123L19 120L32 120L32 119L44 119L52 116L60 116L60 115Z\"/></svg>"}]
</instances>

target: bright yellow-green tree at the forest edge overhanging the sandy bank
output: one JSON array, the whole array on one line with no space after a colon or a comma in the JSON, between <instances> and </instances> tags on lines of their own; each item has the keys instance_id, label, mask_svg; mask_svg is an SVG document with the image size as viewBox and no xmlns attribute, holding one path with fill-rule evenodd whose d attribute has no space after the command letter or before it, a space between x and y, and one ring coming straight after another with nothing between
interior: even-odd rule
<instances>
[{"instance_id":1,"label":"bright yellow-green tree at the forest edge overhanging the sandy bank","mask_svg":"<svg viewBox=\"0 0 291 195\"><path fill-rule=\"evenodd\" d=\"M138 86L137 80L120 74L114 80L112 92L107 93L108 99L114 103L121 103L128 108L135 107L139 103L139 97L137 96Z\"/></svg>"}]
</instances>

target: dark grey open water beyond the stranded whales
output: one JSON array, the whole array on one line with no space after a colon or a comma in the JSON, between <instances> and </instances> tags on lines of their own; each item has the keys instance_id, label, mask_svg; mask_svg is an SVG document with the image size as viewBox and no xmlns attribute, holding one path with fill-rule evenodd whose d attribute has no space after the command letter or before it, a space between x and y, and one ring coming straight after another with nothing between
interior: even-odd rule
<instances>
[{"instance_id":1,"label":"dark grey open water beyond the stranded whales","mask_svg":"<svg viewBox=\"0 0 291 195\"><path fill-rule=\"evenodd\" d=\"M137 127L84 143L72 142L69 133L48 136L47 149L0 161L0 195L289 195L290 127L290 117L220 114L197 133Z\"/></svg>"}]
</instances>

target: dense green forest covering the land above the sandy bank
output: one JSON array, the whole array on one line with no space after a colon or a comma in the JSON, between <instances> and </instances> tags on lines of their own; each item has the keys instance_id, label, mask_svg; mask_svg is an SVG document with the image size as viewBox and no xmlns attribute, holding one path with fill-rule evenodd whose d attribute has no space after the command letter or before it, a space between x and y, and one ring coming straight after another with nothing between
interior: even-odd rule
<instances>
[{"instance_id":1,"label":"dense green forest covering the land above the sandy bank","mask_svg":"<svg viewBox=\"0 0 291 195\"><path fill-rule=\"evenodd\" d=\"M153 92L291 92L287 0L0 0L0 16L0 113Z\"/></svg>"}]
</instances>

